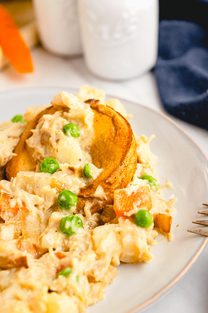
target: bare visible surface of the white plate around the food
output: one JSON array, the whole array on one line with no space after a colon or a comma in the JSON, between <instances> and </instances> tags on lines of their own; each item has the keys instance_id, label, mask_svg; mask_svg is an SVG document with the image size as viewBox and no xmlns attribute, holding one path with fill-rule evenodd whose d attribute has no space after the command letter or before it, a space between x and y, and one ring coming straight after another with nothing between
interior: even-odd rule
<instances>
[{"instance_id":1,"label":"bare visible surface of the white plate around the food","mask_svg":"<svg viewBox=\"0 0 208 313\"><path fill-rule=\"evenodd\" d=\"M0 94L0 122L23 114L27 106L49 104L52 97L67 88L34 88ZM109 99L109 97L107 97ZM169 290L191 267L208 238L188 233L197 228L191 221L199 219L197 211L207 201L208 161L200 148L165 115L147 107L121 100L128 113L133 130L138 136L155 134L151 151L158 156L156 171L167 177L174 187L164 197L174 193L177 215L174 218L174 239L168 243L158 236L152 247L155 259L146 264L121 264L119 274L107 288L105 298L89 307L90 313L133 313L141 310ZM161 182L164 182L161 178ZM198 216L197 216L198 215ZM194 226L192 226L194 225Z\"/></svg>"}]
</instances>

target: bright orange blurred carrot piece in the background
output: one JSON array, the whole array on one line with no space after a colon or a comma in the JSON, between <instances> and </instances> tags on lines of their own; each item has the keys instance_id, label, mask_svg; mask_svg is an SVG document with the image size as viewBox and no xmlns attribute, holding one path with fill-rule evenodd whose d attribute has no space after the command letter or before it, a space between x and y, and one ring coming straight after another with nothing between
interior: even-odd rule
<instances>
[{"instance_id":1,"label":"bright orange blurred carrot piece in the background","mask_svg":"<svg viewBox=\"0 0 208 313\"><path fill-rule=\"evenodd\" d=\"M30 50L11 15L0 5L0 46L3 54L20 74L33 71Z\"/></svg>"}]
</instances>

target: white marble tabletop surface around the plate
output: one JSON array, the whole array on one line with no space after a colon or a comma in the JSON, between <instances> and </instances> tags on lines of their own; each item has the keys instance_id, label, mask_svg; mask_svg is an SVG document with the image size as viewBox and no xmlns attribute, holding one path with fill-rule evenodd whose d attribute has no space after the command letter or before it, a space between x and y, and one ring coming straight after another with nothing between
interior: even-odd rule
<instances>
[{"instance_id":1,"label":"white marble tabletop surface around the plate","mask_svg":"<svg viewBox=\"0 0 208 313\"><path fill-rule=\"evenodd\" d=\"M12 67L0 72L0 92L29 87L52 86L79 88L83 84L103 89L106 94L131 100L160 112L164 112L154 76L147 73L142 77L112 82L95 77L86 68L82 56L60 58L42 48L32 50L35 71L19 75ZM2 105L0 103L0 105ZM172 117L171 117L172 118ZM200 146L208 158L208 134L195 126L172 118ZM208 201L208 195L207 195ZM196 208L197 209L197 208ZM208 245L191 269L165 295L144 308L142 313L206 313L208 312ZM106 312L110 313L110 312Z\"/></svg>"}]
</instances>

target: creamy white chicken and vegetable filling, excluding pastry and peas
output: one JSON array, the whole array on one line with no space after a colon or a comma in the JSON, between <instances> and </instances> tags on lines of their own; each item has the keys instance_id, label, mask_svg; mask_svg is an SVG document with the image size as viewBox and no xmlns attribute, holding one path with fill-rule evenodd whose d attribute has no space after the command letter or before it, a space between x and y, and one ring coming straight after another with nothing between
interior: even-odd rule
<instances>
[{"instance_id":1,"label":"creamy white chicken and vegetable filling, excluding pastry and peas","mask_svg":"<svg viewBox=\"0 0 208 313\"><path fill-rule=\"evenodd\" d=\"M84 213L76 214L81 218L83 228L69 237L60 231L61 218L73 213L74 208L58 208L59 192L67 189L78 194L81 187L96 179L102 171L92 166L92 178L82 175L83 165L92 162L90 145L94 136L93 112L84 100L90 97L104 102L104 95L102 90L86 86L77 96L66 92L56 95L52 105L57 112L43 115L27 140L28 146L34 149L37 172L22 171L11 182L0 181L0 216L5 221L0 223L0 266L4 269L0 270L0 305L3 313L16 310L66 313L69 308L70 313L83 312L88 305L103 299L107 285L117 274L115 266L121 261L137 263L154 258L151 245L156 244L158 235L154 224L141 228L132 216L115 218L115 212L111 215L113 206L106 206L109 216L101 225L105 219L100 213L92 214L93 204L86 201ZM28 115L28 121L30 118ZM69 122L78 125L80 137L63 134L63 125ZM152 137L136 138L140 163L124 189L126 195L147 186L146 181L139 178L143 174L158 180L153 168L156 157L149 148ZM47 156L59 162L60 170L53 174L39 171L40 162ZM166 187L169 187L168 183ZM174 217L176 199L166 201L160 192L150 189L152 208L149 212L153 216L166 213ZM92 196L100 201L105 199L102 187L98 186ZM131 214L137 212L139 204L138 201ZM171 233L167 238L172 239ZM57 278L57 273L68 266L72 267L72 274Z\"/></svg>"}]
</instances>

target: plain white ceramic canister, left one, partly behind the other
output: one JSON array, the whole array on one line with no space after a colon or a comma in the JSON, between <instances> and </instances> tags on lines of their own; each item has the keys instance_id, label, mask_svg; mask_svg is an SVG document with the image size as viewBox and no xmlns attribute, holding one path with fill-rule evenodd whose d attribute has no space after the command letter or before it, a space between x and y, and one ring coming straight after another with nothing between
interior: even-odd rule
<instances>
[{"instance_id":1,"label":"plain white ceramic canister, left one, partly behind the other","mask_svg":"<svg viewBox=\"0 0 208 313\"><path fill-rule=\"evenodd\" d=\"M82 53L77 0L33 0L43 46L65 56Z\"/></svg>"}]
</instances>

